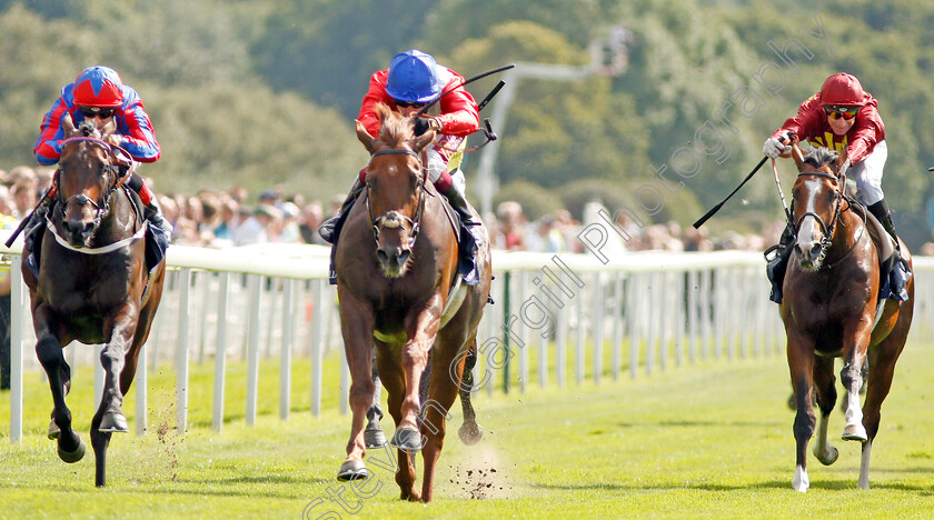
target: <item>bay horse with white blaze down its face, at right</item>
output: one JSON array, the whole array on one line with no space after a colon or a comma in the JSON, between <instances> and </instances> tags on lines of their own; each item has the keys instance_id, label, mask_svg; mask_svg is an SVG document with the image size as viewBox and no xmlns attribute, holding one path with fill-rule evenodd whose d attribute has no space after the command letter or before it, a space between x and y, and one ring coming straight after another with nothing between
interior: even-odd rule
<instances>
[{"instance_id":1,"label":"bay horse with white blaze down its face, at right","mask_svg":"<svg viewBox=\"0 0 934 520\"><path fill-rule=\"evenodd\" d=\"M857 488L870 487L870 453L878 433L880 409L892 387L895 361L902 353L914 311L914 279L906 301L880 300L882 277L877 247L871 239L866 209L844 194L841 171L846 152L817 148L803 156L793 140L798 169L792 216L794 250L784 282L781 312L787 336L788 368L797 412L794 434L796 467L792 486L805 492L807 443L814 436L812 391L821 409L814 456L825 466L838 457L827 441L827 419L836 401L834 359L843 359L845 390L843 440L863 443ZM883 231L883 234L887 234ZM912 263L901 242L902 257ZM866 397L860 408L862 369L868 363Z\"/></svg>"}]
</instances>

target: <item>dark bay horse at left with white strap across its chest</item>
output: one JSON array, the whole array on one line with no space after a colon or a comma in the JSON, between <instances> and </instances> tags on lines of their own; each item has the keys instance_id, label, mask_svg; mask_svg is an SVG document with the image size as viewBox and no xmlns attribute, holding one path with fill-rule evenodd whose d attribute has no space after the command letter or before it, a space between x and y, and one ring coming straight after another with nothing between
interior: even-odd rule
<instances>
[{"instance_id":1,"label":"dark bay horse at left with white strap across its chest","mask_svg":"<svg viewBox=\"0 0 934 520\"><path fill-rule=\"evenodd\" d=\"M91 420L95 483L106 484L107 447L113 432L127 432L121 406L130 388L152 318L162 296L165 258L150 271L145 261L146 224L135 209L120 166L129 156L108 143L111 121L98 130L90 121L74 128L66 114L66 140L54 176L56 202L44 233L36 239L38 276L23 252L22 274L29 286L36 354L49 377L52 422L66 462L85 456L85 441L71 428L64 397L71 388L71 368L62 348L72 340L103 343L100 361L105 387ZM137 413L142 413L138 410Z\"/></svg>"}]
</instances>

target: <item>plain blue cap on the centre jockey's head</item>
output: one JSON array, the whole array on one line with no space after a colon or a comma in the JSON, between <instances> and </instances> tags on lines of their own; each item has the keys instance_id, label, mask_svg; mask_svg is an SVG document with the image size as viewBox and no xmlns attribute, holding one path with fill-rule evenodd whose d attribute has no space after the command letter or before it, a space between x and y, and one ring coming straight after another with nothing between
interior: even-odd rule
<instances>
[{"instance_id":1,"label":"plain blue cap on the centre jockey's head","mask_svg":"<svg viewBox=\"0 0 934 520\"><path fill-rule=\"evenodd\" d=\"M445 87L438 76L438 63L420 50L400 52L389 63L386 93L409 103L434 101Z\"/></svg>"}]
</instances>

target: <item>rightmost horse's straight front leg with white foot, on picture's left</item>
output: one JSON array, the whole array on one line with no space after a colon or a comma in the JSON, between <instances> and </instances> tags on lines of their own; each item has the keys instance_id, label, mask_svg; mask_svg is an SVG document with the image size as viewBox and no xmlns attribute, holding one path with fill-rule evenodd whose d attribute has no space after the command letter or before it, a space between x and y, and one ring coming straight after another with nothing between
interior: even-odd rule
<instances>
[{"instance_id":1,"label":"rightmost horse's straight front leg with white foot, on picture's left","mask_svg":"<svg viewBox=\"0 0 934 520\"><path fill-rule=\"evenodd\" d=\"M792 479L792 487L795 491L806 492L811 487L807 477L807 443L814 436L814 406L812 404L811 392L813 391L813 344L801 338L799 334L787 330L788 337L787 354L788 368L792 373L792 388L795 392L795 477Z\"/></svg>"}]
</instances>

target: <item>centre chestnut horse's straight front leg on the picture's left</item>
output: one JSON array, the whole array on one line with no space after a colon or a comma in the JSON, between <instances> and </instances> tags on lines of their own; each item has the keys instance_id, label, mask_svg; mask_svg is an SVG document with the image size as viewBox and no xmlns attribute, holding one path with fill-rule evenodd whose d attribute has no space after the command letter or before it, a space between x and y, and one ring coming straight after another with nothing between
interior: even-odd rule
<instances>
[{"instance_id":1,"label":"centre chestnut horse's straight front leg on the picture's left","mask_svg":"<svg viewBox=\"0 0 934 520\"><path fill-rule=\"evenodd\" d=\"M337 472L338 480L365 479L369 476L364 463L366 442L364 426L367 420L367 409L372 402L375 386L371 377L372 366L372 331L376 326L370 307L340 290L340 332L344 337L344 353L350 369L350 439L347 441L347 458Z\"/></svg>"}]
</instances>

